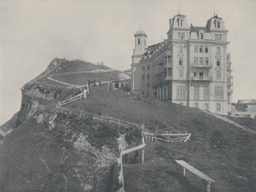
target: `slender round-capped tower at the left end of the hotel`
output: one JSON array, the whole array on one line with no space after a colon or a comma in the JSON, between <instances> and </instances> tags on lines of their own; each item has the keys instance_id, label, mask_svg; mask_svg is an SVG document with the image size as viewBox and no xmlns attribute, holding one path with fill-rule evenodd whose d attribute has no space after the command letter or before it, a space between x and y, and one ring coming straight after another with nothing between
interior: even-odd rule
<instances>
[{"instance_id":1,"label":"slender round-capped tower at the left end of the hotel","mask_svg":"<svg viewBox=\"0 0 256 192\"><path fill-rule=\"evenodd\" d=\"M146 50L147 35L143 30L137 31L134 34L135 37L135 49L133 49L133 54L131 56L131 91L138 93L137 90L141 89L141 84L135 84L134 82L141 81L141 66L139 61L143 57Z\"/></svg>"}]
</instances>

